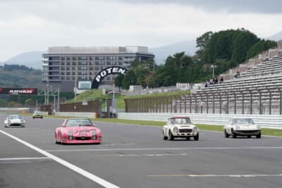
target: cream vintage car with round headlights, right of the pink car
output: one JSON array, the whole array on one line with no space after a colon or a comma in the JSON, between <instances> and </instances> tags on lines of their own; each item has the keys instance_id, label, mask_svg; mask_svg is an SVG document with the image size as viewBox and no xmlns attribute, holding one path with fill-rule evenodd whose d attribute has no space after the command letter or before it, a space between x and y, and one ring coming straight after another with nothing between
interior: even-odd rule
<instances>
[{"instance_id":1,"label":"cream vintage car with round headlights, right of the pink car","mask_svg":"<svg viewBox=\"0 0 282 188\"><path fill-rule=\"evenodd\" d=\"M169 118L163 127L164 139L173 140L176 137L199 140L199 132L196 125L192 125L188 117Z\"/></svg>"}]
</instances>

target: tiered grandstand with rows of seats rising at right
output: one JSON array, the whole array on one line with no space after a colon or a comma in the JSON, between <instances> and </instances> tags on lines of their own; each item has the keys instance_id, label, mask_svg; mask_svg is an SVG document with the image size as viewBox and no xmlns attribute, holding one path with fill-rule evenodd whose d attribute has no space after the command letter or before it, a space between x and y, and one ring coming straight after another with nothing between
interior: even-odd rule
<instances>
[{"instance_id":1,"label":"tiered grandstand with rows of seats rising at right","mask_svg":"<svg viewBox=\"0 0 282 188\"><path fill-rule=\"evenodd\" d=\"M282 114L282 42L277 49L259 56L260 63L245 66L245 72L210 85L176 102L176 112ZM243 70L239 66L229 73ZM241 68L241 69L240 69ZM228 75L230 77L230 75ZM226 76L225 78L227 78ZM184 109L184 110L183 110Z\"/></svg>"}]
</instances>

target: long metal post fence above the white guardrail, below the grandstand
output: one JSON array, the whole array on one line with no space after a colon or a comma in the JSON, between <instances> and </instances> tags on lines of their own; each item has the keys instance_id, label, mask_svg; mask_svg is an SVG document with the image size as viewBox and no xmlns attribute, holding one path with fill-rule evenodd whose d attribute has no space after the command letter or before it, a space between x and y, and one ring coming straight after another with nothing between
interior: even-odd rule
<instances>
[{"instance_id":1,"label":"long metal post fence above the white guardrail, below the grandstand","mask_svg":"<svg viewBox=\"0 0 282 188\"><path fill-rule=\"evenodd\" d=\"M282 90L274 87L125 99L125 112L282 115Z\"/></svg>"}]
</instances>

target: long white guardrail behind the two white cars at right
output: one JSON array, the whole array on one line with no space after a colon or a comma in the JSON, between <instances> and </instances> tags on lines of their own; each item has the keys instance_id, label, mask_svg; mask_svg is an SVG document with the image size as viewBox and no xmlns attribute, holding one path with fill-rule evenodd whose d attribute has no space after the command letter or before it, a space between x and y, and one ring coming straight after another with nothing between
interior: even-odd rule
<instances>
[{"instance_id":1,"label":"long white guardrail behind the two white cars at right","mask_svg":"<svg viewBox=\"0 0 282 188\"><path fill-rule=\"evenodd\" d=\"M192 123L226 125L231 118L252 118L261 127L282 129L282 115L240 115L211 113L118 113L118 119L167 121L172 116L188 116Z\"/></svg>"}]
</instances>

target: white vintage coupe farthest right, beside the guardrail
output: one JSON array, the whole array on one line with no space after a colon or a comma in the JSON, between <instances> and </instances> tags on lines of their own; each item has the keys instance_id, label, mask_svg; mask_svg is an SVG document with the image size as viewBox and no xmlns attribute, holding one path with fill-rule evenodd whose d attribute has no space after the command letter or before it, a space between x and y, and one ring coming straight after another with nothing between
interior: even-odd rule
<instances>
[{"instance_id":1,"label":"white vintage coupe farthest right, beside the guardrail","mask_svg":"<svg viewBox=\"0 0 282 188\"><path fill-rule=\"evenodd\" d=\"M262 137L261 128L251 118L233 118L223 129L226 138L229 136L233 138L237 136L247 136L248 138L252 136Z\"/></svg>"}]
</instances>

